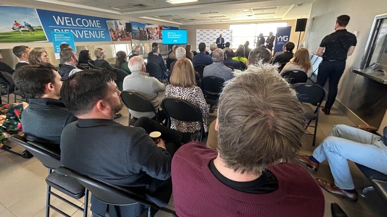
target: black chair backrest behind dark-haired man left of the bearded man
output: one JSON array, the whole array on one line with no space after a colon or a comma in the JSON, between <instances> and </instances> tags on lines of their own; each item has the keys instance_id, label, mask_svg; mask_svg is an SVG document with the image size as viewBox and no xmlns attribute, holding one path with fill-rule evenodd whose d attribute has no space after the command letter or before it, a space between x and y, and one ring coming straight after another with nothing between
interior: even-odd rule
<instances>
[{"instance_id":1,"label":"black chair backrest behind dark-haired man left of the bearded man","mask_svg":"<svg viewBox=\"0 0 387 217\"><path fill-rule=\"evenodd\" d=\"M20 135L12 135L9 140L23 146L33 154L45 167L58 169L61 166L60 153L38 142L27 141Z\"/></svg>"}]
</instances>

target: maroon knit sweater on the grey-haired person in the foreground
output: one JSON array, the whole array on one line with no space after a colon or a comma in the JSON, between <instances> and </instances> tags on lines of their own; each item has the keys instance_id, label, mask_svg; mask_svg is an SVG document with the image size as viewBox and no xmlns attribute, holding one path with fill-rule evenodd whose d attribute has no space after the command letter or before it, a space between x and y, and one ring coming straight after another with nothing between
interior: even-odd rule
<instances>
[{"instance_id":1,"label":"maroon knit sweater on the grey-haired person in the foreground","mask_svg":"<svg viewBox=\"0 0 387 217\"><path fill-rule=\"evenodd\" d=\"M179 217L323 217L324 196L298 165L267 167L278 189L266 194L237 191L210 171L217 152L199 142L183 145L172 159L173 200Z\"/></svg>"}]
</instances>

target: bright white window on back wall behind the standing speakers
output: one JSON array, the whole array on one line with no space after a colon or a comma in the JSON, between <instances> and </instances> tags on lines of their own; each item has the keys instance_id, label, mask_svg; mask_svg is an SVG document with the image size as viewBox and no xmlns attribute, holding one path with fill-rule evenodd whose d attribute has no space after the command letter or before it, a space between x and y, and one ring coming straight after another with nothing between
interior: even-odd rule
<instances>
[{"instance_id":1,"label":"bright white window on back wall behind the standing speakers","mask_svg":"<svg viewBox=\"0 0 387 217\"><path fill-rule=\"evenodd\" d=\"M273 35L275 35L277 33L277 27L284 26L288 26L288 22L230 24L229 29L232 30L231 48L238 48L239 44L244 44L246 41L250 42L250 47L256 47L260 33L266 39L269 36L269 32L273 32Z\"/></svg>"}]
</instances>

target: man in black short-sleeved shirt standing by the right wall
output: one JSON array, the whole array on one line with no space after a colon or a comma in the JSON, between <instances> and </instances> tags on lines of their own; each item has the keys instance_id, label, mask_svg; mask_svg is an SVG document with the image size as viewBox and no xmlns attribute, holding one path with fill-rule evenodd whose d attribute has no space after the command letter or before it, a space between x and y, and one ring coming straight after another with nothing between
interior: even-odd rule
<instances>
[{"instance_id":1,"label":"man in black short-sleeved shirt standing by the right wall","mask_svg":"<svg viewBox=\"0 0 387 217\"><path fill-rule=\"evenodd\" d=\"M334 33L323 38L316 54L323 56L323 61L319 66L317 84L324 87L329 78L328 99L325 102L323 112L329 115L337 95L337 86L345 69L347 56L352 55L356 46L356 36L348 32L345 27L349 22L348 15L340 15L336 18Z\"/></svg>"}]
</instances>

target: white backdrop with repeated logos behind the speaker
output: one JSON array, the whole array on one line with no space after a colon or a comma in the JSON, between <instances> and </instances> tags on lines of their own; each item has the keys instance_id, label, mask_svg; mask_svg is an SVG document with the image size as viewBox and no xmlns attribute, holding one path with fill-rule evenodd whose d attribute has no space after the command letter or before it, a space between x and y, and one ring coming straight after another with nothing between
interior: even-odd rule
<instances>
[{"instance_id":1,"label":"white backdrop with repeated logos behind the speaker","mask_svg":"<svg viewBox=\"0 0 387 217\"><path fill-rule=\"evenodd\" d=\"M209 45L215 43L219 35L222 34L224 43L232 44L232 30L229 29L197 29L196 30L196 51L199 52L199 43L204 42L209 51Z\"/></svg>"}]
</instances>

